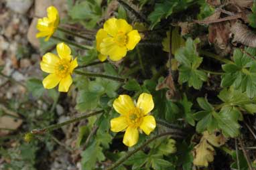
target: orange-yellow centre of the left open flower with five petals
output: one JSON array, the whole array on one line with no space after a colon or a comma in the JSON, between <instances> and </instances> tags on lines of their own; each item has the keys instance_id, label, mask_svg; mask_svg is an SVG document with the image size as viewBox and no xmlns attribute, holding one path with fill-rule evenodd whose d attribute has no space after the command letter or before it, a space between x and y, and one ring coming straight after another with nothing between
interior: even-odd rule
<instances>
[{"instance_id":1,"label":"orange-yellow centre of the left open flower with five petals","mask_svg":"<svg viewBox=\"0 0 256 170\"><path fill-rule=\"evenodd\" d=\"M58 64L55 66L55 74L57 76L60 76L61 78L64 78L68 76L69 74L69 68L70 68L70 62L65 59L61 59Z\"/></svg>"}]
</instances>

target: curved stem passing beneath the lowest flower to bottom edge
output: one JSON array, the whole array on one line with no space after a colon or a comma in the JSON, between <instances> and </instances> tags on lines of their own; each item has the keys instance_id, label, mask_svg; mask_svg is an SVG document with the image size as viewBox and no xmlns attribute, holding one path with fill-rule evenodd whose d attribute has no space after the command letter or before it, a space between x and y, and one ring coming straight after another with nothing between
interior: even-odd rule
<instances>
[{"instance_id":1,"label":"curved stem passing beneath the lowest flower to bottom edge","mask_svg":"<svg viewBox=\"0 0 256 170\"><path fill-rule=\"evenodd\" d=\"M145 143L143 143L142 145L140 145L139 147L137 147L136 149L133 149L133 151L129 151L126 155L124 155L123 157L121 157L119 160L117 160L115 163L113 163L111 166L107 167L106 170L111 170L111 169L115 169L116 167L118 167L119 165L121 165L123 162L125 162L127 159L129 159L129 157L131 157L133 154L137 153L137 151L140 151L141 149L143 149L145 146L147 146L149 143L151 143L152 141L155 141L155 139L158 139L160 137L164 137L164 136L171 136L171 137L176 137L176 138L182 138L179 135L175 135L173 132L167 132L167 133L161 133L159 135L156 135L155 137L152 137L151 139L148 139L147 141L145 141Z\"/></svg>"}]
</instances>

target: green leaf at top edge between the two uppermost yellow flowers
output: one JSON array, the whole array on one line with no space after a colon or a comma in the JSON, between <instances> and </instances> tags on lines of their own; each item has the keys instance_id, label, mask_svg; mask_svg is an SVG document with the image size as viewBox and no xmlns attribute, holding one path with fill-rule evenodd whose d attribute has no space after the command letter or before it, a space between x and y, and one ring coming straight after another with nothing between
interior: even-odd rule
<instances>
[{"instance_id":1,"label":"green leaf at top edge between the two uppermost yellow flowers","mask_svg":"<svg viewBox=\"0 0 256 170\"><path fill-rule=\"evenodd\" d=\"M102 0L77 1L77 3L68 10L68 15L70 15L72 20L79 21L87 29L92 29L97 25L97 22L101 19L103 14L101 1Z\"/></svg>"}]
</instances>

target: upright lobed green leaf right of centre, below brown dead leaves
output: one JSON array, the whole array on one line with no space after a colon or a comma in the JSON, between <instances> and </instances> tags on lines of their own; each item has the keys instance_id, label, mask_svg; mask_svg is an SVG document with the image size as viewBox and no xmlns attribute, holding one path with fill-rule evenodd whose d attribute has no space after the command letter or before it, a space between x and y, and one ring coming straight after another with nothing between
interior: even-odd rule
<instances>
[{"instance_id":1,"label":"upright lobed green leaf right of centre, below brown dead leaves","mask_svg":"<svg viewBox=\"0 0 256 170\"><path fill-rule=\"evenodd\" d=\"M188 38L186 41L186 46L180 48L175 53L175 58L180 62L179 78L178 82L180 84L188 82L188 86L193 86L196 89L202 87L202 82L207 80L207 75L197 68L202 63L202 58L198 56L196 51L196 44L198 44L199 39L194 41L191 38Z\"/></svg>"}]
</instances>

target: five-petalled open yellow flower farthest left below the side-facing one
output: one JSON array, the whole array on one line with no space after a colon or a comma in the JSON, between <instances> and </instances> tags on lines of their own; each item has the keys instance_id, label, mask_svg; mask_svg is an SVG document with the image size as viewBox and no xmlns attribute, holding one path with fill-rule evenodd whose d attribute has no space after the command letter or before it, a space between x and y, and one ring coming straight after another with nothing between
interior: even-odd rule
<instances>
[{"instance_id":1,"label":"five-petalled open yellow flower farthest left below the side-facing one","mask_svg":"<svg viewBox=\"0 0 256 170\"><path fill-rule=\"evenodd\" d=\"M44 72L50 73L43 80L44 88L54 88L59 83L58 90L60 92L68 92L68 88L72 84L71 74L78 66L76 58L73 60L70 48L64 44L57 44L56 50L58 56L52 53L47 53L43 56L40 62L41 69Z\"/></svg>"}]
</instances>

